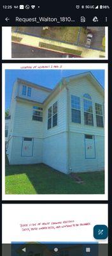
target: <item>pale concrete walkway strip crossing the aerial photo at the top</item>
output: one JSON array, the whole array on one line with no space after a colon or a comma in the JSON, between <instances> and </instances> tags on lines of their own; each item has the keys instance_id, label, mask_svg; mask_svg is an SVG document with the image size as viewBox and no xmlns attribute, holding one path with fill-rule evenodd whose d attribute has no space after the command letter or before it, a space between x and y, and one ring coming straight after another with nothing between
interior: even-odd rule
<instances>
[{"instance_id":1,"label":"pale concrete walkway strip crossing the aerial photo at the top","mask_svg":"<svg viewBox=\"0 0 112 256\"><path fill-rule=\"evenodd\" d=\"M88 48L77 46L77 45L71 45L71 44L67 44L67 43L64 43L64 42L57 42L57 41L53 41L53 40L50 40L50 39L39 38L39 37L36 37L36 36L29 36L29 35L24 35L24 34L15 33L15 32L13 32L11 34L11 36L13 37L12 42L16 43L16 44L29 45L31 47L37 47L39 49L45 49L46 50L46 48L39 47L39 43L41 42L41 43L45 43L45 44L51 44L51 45L55 45L55 46L59 46L59 47L64 47L64 48L67 48L67 49L81 51L81 57L82 58L99 58L100 55L105 57L105 53L102 52L102 51L97 51L97 50L94 50L94 49L88 49ZM20 40L18 40L18 38L20 38ZM55 50L52 50L50 48L47 48L47 49L49 49L50 51L55 51ZM55 52L57 52L57 51L55 51ZM58 50L58 52L62 53L62 51L59 51L59 50ZM63 53L65 53L65 52L63 52ZM68 52L68 54L69 54L69 52Z\"/></svg>"}]
</instances>

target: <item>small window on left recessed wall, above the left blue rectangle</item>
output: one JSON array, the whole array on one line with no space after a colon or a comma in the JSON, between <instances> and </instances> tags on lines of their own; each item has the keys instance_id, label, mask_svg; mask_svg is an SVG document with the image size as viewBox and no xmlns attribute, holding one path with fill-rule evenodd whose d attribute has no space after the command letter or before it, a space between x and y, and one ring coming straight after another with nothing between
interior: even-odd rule
<instances>
[{"instance_id":1,"label":"small window on left recessed wall, above the left blue rectangle","mask_svg":"<svg viewBox=\"0 0 112 256\"><path fill-rule=\"evenodd\" d=\"M43 122L43 108L33 106L32 120Z\"/></svg>"}]
</instances>

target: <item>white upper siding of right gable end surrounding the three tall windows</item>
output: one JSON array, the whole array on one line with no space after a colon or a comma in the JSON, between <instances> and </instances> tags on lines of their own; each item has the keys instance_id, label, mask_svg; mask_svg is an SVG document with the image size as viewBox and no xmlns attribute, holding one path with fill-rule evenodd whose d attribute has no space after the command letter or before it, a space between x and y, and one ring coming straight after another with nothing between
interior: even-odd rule
<instances>
[{"instance_id":1,"label":"white upper siding of right gable end surrounding the three tall windows","mask_svg":"<svg viewBox=\"0 0 112 256\"><path fill-rule=\"evenodd\" d=\"M74 132L84 132L87 134L94 133L97 135L104 136L104 128L97 127L95 119L95 103L102 104L102 111L104 105L104 97L101 93L97 91L95 86L89 81L86 77L76 79L74 82L69 83L69 124L70 131ZM93 106L93 117L94 117L94 126L84 124L84 113L83 113L83 95L88 93L92 97L92 106ZM76 124L71 122L71 95L80 97L81 103L81 124Z\"/></svg>"}]
</instances>

